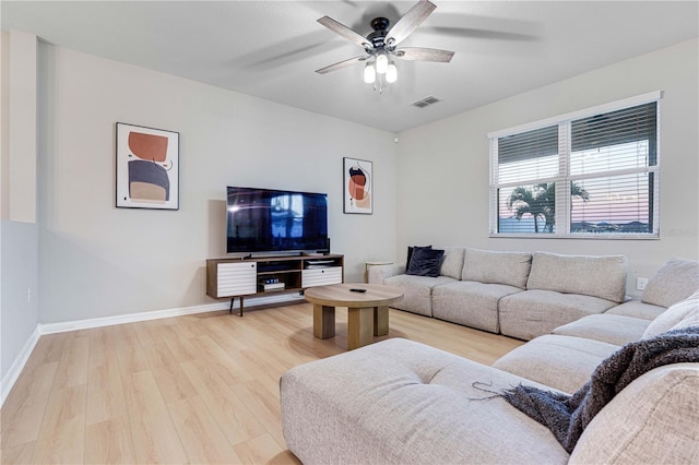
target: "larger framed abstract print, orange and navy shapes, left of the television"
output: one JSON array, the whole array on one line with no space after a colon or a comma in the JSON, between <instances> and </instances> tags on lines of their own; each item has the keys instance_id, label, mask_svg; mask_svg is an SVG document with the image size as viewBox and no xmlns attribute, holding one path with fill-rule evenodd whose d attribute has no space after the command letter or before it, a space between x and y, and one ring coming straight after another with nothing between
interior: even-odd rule
<instances>
[{"instance_id":1,"label":"larger framed abstract print, orange and navy shapes, left of the television","mask_svg":"<svg viewBox=\"0 0 699 465\"><path fill-rule=\"evenodd\" d=\"M117 207L179 210L179 132L117 123Z\"/></svg>"}]
</instances>

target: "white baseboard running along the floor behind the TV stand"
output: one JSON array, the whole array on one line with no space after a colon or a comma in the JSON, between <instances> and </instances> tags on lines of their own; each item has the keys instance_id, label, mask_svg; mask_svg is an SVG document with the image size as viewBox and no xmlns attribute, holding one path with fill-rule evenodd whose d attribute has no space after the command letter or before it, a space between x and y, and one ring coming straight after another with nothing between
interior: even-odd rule
<instances>
[{"instance_id":1,"label":"white baseboard running along the floor behind the TV stand","mask_svg":"<svg viewBox=\"0 0 699 465\"><path fill-rule=\"evenodd\" d=\"M273 296L250 297L245 299L245 308L283 303L303 300L304 297L296 294L276 294ZM38 325L39 334L66 333L68 331L90 330L93 327L111 326L115 324L135 323L139 321L159 320L163 318L183 317L188 314L205 313L210 311L228 310L229 301L209 303L204 306L181 307L166 310L145 311L140 313L118 314L114 317L92 318L88 320L75 320L61 323L44 323ZM236 299L235 309L240 308L240 299Z\"/></svg>"}]
</instances>

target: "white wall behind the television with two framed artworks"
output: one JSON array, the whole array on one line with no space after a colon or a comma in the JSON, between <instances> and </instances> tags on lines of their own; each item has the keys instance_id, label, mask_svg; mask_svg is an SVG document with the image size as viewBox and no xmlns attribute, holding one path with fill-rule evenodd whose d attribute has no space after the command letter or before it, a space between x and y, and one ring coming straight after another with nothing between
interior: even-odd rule
<instances>
[{"instance_id":1,"label":"white wall behind the television with two framed artworks","mask_svg":"<svg viewBox=\"0 0 699 465\"><path fill-rule=\"evenodd\" d=\"M346 281L394 247L392 133L45 44L39 76L42 323L214 302L226 186L327 192ZM117 121L180 133L179 211L115 207ZM374 162L374 215L343 214L345 156Z\"/></svg>"}]
</instances>

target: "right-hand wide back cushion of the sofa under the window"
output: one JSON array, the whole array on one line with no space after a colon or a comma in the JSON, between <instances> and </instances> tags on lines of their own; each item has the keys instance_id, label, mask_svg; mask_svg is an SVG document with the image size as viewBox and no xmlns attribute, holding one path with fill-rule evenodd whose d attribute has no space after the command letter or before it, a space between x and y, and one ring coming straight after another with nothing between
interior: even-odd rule
<instances>
[{"instance_id":1,"label":"right-hand wide back cushion of the sofa under the window","mask_svg":"<svg viewBox=\"0 0 699 465\"><path fill-rule=\"evenodd\" d=\"M559 255L535 252L528 289L582 294L614 302L626 294L625 255Z\"/></svg>"}]
</instances>

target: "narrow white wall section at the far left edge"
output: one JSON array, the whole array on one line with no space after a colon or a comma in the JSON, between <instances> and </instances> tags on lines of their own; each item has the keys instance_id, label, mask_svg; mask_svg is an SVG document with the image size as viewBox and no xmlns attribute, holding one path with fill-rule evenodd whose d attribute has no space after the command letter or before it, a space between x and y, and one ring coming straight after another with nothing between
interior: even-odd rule
<instances>
[{"instance_id":1,"label":"narrow white wall section at the far left edge","mask_svg":"<svg viewBox=\"0 0 699 465\"><path fill-rule=\"evenodd\" d=\"M0 35L0 405L36 344L36 36Z\"/></svg>"}]
</instances>

